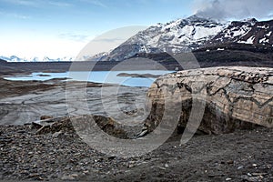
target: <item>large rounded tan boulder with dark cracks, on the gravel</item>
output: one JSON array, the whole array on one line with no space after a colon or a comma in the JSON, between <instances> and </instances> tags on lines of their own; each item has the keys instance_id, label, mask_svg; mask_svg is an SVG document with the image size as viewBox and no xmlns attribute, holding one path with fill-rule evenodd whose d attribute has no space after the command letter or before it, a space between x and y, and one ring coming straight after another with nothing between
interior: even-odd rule
<instances>
[{"instance_id":1,"label":"large rounded tan boulder with dark cracks, on the gravel","mask_svg":"<svg viewBox=\"0 0 273 182\"><path fill-rule=\"evenodd\" d=\"M147 97L151 108L145 122L147 132L152 132L164 115L172 115L168 102L180 106L177 131L187 126L220 134L253 126L273 127L273 68L232 66L180 71L159 77Z\"/></svg>"}]
</instances>

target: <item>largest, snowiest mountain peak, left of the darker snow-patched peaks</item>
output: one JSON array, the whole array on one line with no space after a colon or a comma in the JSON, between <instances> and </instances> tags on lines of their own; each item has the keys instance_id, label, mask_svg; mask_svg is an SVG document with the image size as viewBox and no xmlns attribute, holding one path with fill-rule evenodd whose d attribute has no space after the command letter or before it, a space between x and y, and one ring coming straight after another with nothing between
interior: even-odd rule
<instances>
[{"instance_id":1,"label":"largest, snowiest mountain peak, left of the darker snow-patched peaks","mask_svg":"<svg viewBox=\"0 0 273 182\"><path fill-rule=\"evenodd\" d=\"M212 19L190 16L157 24L137 33L102 60L124 60L139 53L179 53L196 49L227 27Z\"/></svg>"}]
</instances>

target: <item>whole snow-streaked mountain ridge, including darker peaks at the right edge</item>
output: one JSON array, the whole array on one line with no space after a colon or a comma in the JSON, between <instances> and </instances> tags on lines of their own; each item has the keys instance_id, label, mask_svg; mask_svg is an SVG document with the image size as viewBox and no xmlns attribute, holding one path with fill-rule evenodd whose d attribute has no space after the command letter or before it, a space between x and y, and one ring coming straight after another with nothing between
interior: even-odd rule
<instances>
[{"instance_id":1,"label":"whole snow-streaked mountain ridge, including darker peaks at the right edge","mask_svg":"<svg viewBox=\"0 0 273 182\"><path fill-rule=\"evenodd\" d=\"M225 43L273 45L272 24L273 20L258 22L256 19L223 23L193 15L152 25L100 60L121 61L141 53L181 53Z\"/></svg>"}]
</instances>

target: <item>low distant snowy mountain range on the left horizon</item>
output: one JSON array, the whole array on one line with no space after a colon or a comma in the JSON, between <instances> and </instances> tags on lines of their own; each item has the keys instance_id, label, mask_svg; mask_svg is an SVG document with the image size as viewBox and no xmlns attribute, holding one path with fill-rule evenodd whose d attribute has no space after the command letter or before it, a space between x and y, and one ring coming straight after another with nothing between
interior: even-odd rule
<instances>
[{"instance_id":1,"label":"low distant snowy mountain range on the left horizon","mask_svg":"<svg viewBox=\"0 0 273 182\"><path fill-rule=\"evenodd\" d=\"M0 59L3 59L7 62L60 62L60 61L74 61L74 57L58 57L58 58L49 58L48 56L44 57L18 57L18 56L0 56Z\"/></svg>"}]
</instances>

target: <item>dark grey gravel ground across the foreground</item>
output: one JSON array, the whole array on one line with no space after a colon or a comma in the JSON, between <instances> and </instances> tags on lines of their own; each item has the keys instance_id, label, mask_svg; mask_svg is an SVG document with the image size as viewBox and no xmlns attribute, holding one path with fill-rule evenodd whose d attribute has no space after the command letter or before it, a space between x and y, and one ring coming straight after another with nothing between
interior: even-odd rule
<instances>
[{"instance_id":1,"label":"dark grey gravel ground across the foreground","mask_svg":"<svg viewBox=\"0 0 273 182\"><path fill-rule=\"evenodd\" d=\"M35 135L0 126L0 179L78 181L273 181L273 129L172 136L142 157L108 157L73 132Z\"/></svg>"}]
</instances>

